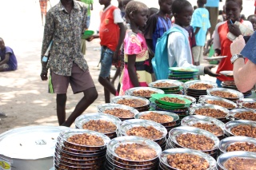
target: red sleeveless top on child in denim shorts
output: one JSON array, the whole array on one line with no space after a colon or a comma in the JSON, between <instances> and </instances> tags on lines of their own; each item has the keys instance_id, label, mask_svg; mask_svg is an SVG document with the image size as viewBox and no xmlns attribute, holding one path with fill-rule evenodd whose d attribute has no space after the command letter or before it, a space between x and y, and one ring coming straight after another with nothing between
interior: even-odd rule
<instances>
[{"instance_id":1,"label":"red sleeveless top on child in denim shorts","mask_svg":"<svg viewBox=\"0 0 256 170\"><path fill-rule=\"evenodd\" d=\"M117 48L120 33L118 24L114 23L113 13L117 8L116 6L110 6L109 9L101 12L101 25L99 28L100 44L113 51Z\"/></svg>"}]
</instances>

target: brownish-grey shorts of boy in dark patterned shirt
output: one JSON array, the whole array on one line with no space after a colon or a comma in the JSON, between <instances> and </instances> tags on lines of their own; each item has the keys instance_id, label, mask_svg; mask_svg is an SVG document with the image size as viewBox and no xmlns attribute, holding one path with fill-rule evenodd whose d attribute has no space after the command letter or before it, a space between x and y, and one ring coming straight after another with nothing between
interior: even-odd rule
<instances>
[{"instance_id":1,"label":"brownish-grey shorts of boy in dark patterned shirt","mask_svg":"<svg viewBox=\"0 0 256 170\"><path fill-rule=\"evenodd\" d=\"M73 64L71 76L61 76L53 72L50 73L49 93L64 94L67 92L69 84L74 94L95 87L89 70L87 69L84 72L76 64Z\"/></svg>"}]
</instances>

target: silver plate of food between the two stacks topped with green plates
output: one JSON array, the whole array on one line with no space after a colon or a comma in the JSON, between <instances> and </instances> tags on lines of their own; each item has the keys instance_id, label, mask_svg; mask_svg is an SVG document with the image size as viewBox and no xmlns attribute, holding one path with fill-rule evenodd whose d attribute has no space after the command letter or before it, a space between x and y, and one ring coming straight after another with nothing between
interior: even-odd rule
<instances>
[{"instance_id":1,"label":"silver plate of food between the two stacks topped with green plates","mask_svg":"<svg viewBox=\"0 0 256 170\"><path fill-rule=\"evenodd\" d=\"M183 82L175 80L158 80L149 84L152 88L162 89L166 94L183 94Z\"/></svg>"}]
</instances>

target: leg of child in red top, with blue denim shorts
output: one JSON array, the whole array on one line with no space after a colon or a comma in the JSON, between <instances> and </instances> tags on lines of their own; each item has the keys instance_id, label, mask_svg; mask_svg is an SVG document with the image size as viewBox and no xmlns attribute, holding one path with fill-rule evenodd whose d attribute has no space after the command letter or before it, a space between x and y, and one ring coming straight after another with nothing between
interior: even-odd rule
<instances>
[{"instance_id":1,"label":"leg of child in red top, with blue denim shorts","mask_svg":"<svg viewBox=\"0 0 256 170\"><path fill-rule=\"evenodd\" d=\"M114 85L110 82L108 78L110 76L110 69L112 65L112 57L114 52L106 47L102 47L102 57L101 57L101 72L98 77L98 82L104 87L104 91L108 90L112 94L116 94L116 89L114 89ZM109 93L105 93L106 103L109 101L107 100L110 98Z\"/></svg>"}]
</instances>

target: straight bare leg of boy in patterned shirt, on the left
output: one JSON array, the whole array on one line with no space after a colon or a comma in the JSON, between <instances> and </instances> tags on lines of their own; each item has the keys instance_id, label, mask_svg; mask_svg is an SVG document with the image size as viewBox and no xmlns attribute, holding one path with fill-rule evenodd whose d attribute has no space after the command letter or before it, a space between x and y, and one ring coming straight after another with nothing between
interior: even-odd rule
<instances>
[{"instance_id":1,"label":"straight bare leg of boy in patterned shirt, on the left","mask_svg":"<svg viewBox=\"0 0 256 170\"><path fill-rule=\"evenodd\" d=\"M58 125L62 125L66 121L66 93L57 94L56 103Z\"/></svg>"}]
</instances>

